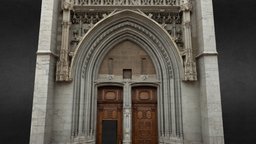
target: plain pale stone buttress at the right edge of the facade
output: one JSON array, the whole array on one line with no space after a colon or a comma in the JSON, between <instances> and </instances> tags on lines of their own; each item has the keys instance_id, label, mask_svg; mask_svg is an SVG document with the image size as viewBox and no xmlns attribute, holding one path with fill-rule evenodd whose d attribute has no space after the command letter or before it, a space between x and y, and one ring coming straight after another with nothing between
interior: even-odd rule
<instances>
[{"instance_id":1,"label":"plain pale stone buttress at the right edge of the facade","mask_svg":"<svg viewBox=\"0 0 256 144\"><path fill-rule=\"evenodd\" d=\"M196 2L202 140L203 144L224 144L212 0Z\"/></svg>"}]
</instances>

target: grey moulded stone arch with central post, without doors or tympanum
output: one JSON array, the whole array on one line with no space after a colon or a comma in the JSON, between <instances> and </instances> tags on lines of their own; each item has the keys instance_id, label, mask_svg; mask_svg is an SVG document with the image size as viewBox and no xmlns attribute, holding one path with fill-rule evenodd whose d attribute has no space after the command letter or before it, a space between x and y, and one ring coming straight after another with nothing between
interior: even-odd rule
<instances>
[{"instance_id":1,"label":"grey moulded stone arch with central post, without doors or tympanum","mask_svg":"<svg viewBox=\"0 0 256 144\"><path fill-rule=\"evenodd\" d=\"M109 74L99 79L100 65L107 53L121 42L130 41L145 51L156 70L135 81L114 79ZM122 142L132 141L132 89L156 88L157 136L159 143L183 143L181 80L182 59L168 33L139 11L113 12L87 32L78 45L71 63L74 79L72 137L74 142L95 143L97 135L98 88L120 87L122 103Z\"/></svg>"}]
</instances>

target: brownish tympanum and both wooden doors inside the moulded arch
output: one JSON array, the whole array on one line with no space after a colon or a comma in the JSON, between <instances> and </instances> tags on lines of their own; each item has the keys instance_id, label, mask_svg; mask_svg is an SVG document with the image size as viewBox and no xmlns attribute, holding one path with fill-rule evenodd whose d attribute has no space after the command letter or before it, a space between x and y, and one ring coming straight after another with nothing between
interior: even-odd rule
<instances>
[{"instance_id":1,"label":"brownish tympanum and both wooden doors inside the moulded arch","mask_svg":"<svg viewBox=\"0 0 256 144\"><path fill-rule=\"evenodd\" d=\"M98 88L97 144L156 144L157 84L150 56L123 41L106 54L98 80L104 86Z\"/></svg>"}]
</instances>

